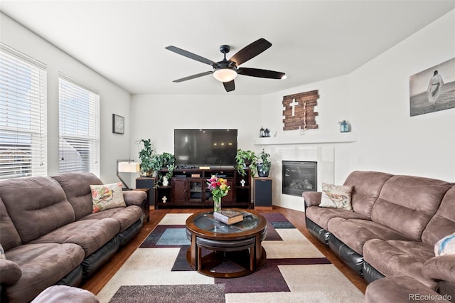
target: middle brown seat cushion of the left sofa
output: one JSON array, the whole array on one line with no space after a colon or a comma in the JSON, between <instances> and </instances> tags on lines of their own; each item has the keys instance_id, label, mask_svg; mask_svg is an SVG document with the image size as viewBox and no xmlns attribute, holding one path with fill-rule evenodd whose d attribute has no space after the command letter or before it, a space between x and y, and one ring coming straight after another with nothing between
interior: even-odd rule
<instances>
[{"instance_id":1,"label":"middle brown seat cushion of the left sofa","mask_svg":"<svg viewBox=\"0 0 455 303\"><path fill-rule=\"evenodd\" d=\"M75 243L82 247L87 257L114 238L119 231L118 220L112 218L78 220L33 240L33 243Z\"/></svg>"}]
</instances>

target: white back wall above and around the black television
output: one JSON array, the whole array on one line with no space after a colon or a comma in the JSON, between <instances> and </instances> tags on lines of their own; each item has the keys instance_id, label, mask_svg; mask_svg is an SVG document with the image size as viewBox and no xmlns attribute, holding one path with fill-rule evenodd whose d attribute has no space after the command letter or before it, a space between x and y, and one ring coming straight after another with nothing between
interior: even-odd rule
<instances>
[{"instance_id":1,"label":"white back wall above and around the black television","mask_svg":"<svg viewBox=\"0 0 455 303\"><path fill-rule=\"evenodd\" d=\"M237 147L252 149L259 105L260 98L250 95L132 95L132 158L139 159L139 139L173 154L174 129L238 129Z\"/></svg>"}]
</instances>

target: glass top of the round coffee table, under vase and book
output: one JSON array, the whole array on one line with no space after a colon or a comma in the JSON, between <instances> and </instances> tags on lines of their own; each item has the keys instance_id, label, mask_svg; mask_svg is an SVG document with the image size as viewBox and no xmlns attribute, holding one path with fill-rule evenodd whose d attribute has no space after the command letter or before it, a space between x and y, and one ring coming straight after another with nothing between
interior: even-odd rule
<instances>
[{"instance_id":1,"label":"glass top of the round coffee table, under vase and book","mask_svg":"<svg viewBox=\"0 0 455 303\"><path fill-rule=\"evenodd\" d=\"M213 218L213 211L207 213L201 213L199 216L194 218L194 224L206 231L212 233L241 233L245 230L252 230L259 224L259 218L252 213L241 211L243 213L243 220L235 224L225 224Z\"/></svg>"}]
</instances>

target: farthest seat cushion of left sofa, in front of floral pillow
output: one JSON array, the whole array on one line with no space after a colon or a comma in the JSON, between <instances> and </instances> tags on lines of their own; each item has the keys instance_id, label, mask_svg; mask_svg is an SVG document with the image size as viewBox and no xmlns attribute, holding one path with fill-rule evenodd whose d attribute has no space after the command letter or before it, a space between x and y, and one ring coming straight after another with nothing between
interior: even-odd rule
<instances>
[{"instance_id":1,"label":"farthest seat cushion of left sofa, in front of floral pillow","mask_svg":"<svg viewBox=\"0 0 455 303\"><path fill-rule=\"evenodd\" d=\"M139 206L127 206L126 208L110 208L97 213L80 218L80 220L100 220L102 218L112 218L120 224L120 233L133 225L134 222L142 218L142 208Z\"/></svg>"}]
</instances>

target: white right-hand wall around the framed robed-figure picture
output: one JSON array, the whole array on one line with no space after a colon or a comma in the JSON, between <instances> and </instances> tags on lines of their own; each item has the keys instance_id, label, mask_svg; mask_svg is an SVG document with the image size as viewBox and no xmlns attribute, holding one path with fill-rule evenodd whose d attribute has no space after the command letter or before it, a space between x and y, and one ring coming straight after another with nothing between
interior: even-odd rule
<instances>
[{"instance_id":1,"label":"white right-hand wall around the framed robed-figure picture","mask_svg":"<svg viewBox=\"0 0 455 303\"><path fill-rule=\"evenodd\" d=\"M455 181L455 109L410 117L409 78L455 57L455 11L349 75L350 168Z\"/></svg>"}]
</instances>

